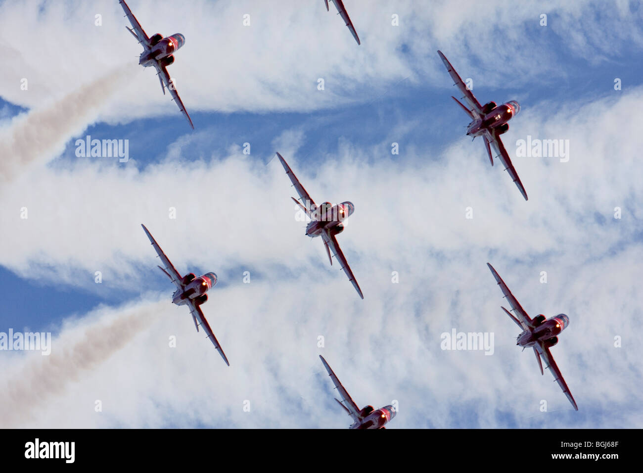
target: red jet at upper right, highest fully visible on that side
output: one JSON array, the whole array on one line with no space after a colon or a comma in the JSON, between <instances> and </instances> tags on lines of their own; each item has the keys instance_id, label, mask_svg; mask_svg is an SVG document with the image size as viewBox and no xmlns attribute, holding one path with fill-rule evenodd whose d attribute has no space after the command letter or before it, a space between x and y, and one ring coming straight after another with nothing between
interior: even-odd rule
<instances>
[{"instance_id":1,"label":"red jet at upper right, highest fully visible on that side","mask_svg":"<svg viewBox=\"0 0 643 473\"><path fill-rule=\"evenodd\" d=\"M500 158L500 161L505 166L505 171L509 171L509 176L511 176L511 179L518 186L520 193L523 194L523 197L527 200L527 192L525 192L518 173L516 173L516 169L514 169L511 163L509 153L507 153L505 146L502 144L502 140L500 140L500 135L506 133L509 129L507 122L512 116L516 116L518 112L520 112L520 105L516 100L509 100L509 102L500 106L497 106L496 102L488 102L484 104L484 106L481 106L480 102L478 102L473 95L473 92L467 88L458 73L453 69L451 62L444 57L442 51L438 51L438 54L440 58L442 58L442 62L444 62L444 66L446 66L449 75L451 75L451 79L455 81L453 85L458 86L460 92L464 94L462 98L464 98L465 102L469 105L469 107L464 106L462 102L451 95L451 98L458 102L458 105L460 105L464 112L469 115L469 118L471 118L471 122L467 125L467 136L473 136L474 140L476 136L482 136L484 138L484 144L487 148L492 166L493 155L491 154L491 147L489 145L493 147L496 158Z\"/></svg>"}]
</instances>

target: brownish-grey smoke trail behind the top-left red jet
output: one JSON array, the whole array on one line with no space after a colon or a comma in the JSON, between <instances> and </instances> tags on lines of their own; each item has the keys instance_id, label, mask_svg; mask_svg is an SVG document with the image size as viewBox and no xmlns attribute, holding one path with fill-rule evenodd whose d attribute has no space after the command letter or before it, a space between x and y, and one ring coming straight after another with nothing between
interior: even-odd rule
<instances>
[{"instance_id":1,"label":"brownish-grey smoke trail behind the top-left red jet","mask_svg":"<svg viewBox=\"0 0 643 473\"><path fill-rule=\"evenodd\" d=\"M134 70L131 65L106 73L44 109L15 118L0 131L0 181L11 180L22 167L37 159L53 158L70 138L98 118L98 111Z\"/></svg>"}]
</instances>

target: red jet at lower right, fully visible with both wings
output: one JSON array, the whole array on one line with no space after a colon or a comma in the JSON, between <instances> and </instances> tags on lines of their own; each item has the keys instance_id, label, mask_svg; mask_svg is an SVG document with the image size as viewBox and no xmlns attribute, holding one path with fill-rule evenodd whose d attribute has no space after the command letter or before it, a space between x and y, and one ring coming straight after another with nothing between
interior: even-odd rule
<instances>
[{"instance_id":1,"label":"red jet at lower right, fully visible with both wings","mask_svg":"<svg viewBox=\"0 0 643 473\"><path fill-rule=\"evenodd\" d=\"M561 371L558 369L558 366L554 361L554 357L552 357L552 354L549 351L552 346L558 343L557 335L569 325L569 317L564 313L559 313L555 317L550 317L549 319L542 314L538 315L535 319L530 319L527 312L525 312L520 305L520 302L516 300L509 288L507 288L507 284L502 281L493 266L489 263L487 263L487 266L489 266L491 274L496 278L496 282L500 285L502 293L507 298L507 301L509 301L511 310L518 315L518 317L514 317L507 309L502 307L502 310L505 311L505 313L511 317L511 320L516 322L516 325L518 325L522 330L516 339L516 345L523 347L523 349L527 347L532 347L534 349L541 375L544 373L543 362L541 362L540 358L542 357L545 360L545 364L547 364L546 367L551 371L552 375L554 375L554 380L558 383L561 389L563 389L563 393L565 393L569 402L572 403L574 409L578 411L578 406L576 405L574 396L572 396L572 393L563 379L563 375L561 375Z\"/></svg>"}]
</instances>

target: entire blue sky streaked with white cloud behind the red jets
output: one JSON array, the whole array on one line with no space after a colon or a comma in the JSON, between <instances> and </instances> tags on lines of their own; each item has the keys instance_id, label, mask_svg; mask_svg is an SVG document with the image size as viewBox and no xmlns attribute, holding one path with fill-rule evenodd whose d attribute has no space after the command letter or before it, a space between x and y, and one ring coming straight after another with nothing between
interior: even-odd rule
<instances>
[{"instance_id":1,"label":"entire blue sky streaked with white cloud behind the red jets","mask_svg":"<svg viewBox=\"0 0 643 473\"><path fill-rule=\"evenodd\" d=\"M640 427L641 371L633 363L643 353L631 340L642 302L638 3L473 3L462 18L448 13L447 1L428 12L413 2L347 0L361 46L318 3L291 3L282 16L252 1L154 15L151 3L132 0L147 33L186 36L170 67L194 132L154 73L136 66L138 46L116 1L0 3L9 51L0 133L14 139L24 120L33 136L48 136L40 127L56 131L33 153L3 153L12 166L0 169L3 247L12 250L0 259L0 331L51 331L56 359L72 366L28 415L6 422L347 427L321 353L360 406L399 400L391 427ZM251 33L240 26L246 10ZM547 26L539 26L541 13ZM401 26L390 26L391 14ZM51 62L49 45L42 51L11 34L19 17L59 34L64 60ZM208 21L215 31L204 31ZM450 98L459 95L438 49L463 79L473 78L480 102L520 102L503 140L528 202L502 165L489 166L482 142L464 136L467 116ZM30 88L21 91L25 76ZM325 91L316 89L318 77ZM66 123L56 113L70 103L77 121ZM29 121L41 110L56 117L51 124ZM129 140L131 160L77 158L75 141L87 134ZM528 134L570 140L570 162L514 157L516 140ZM364 302L294 221L293 189L275 151L316 201L356 205L338 240ZM22 205L29 227L15 218ZM622 219L613 218L617 206ZM230 368L194 333L185 308L171 306L172 286L154 267L140 223L179 272L219 275L203 307ZM550 374L539 375L533 355L514 346L487 261L530 315L570 315L552 353L578 413ZM543 270L547 284L539 283ZM128 335L112 349L86 335L121 323ZM451 328L493 331L494 356L440 350L440 333ZM165 347L168 335L179 347ZM613 347L615 336L622 348ZM87 351L76 349L83 340ZM89 361L75 363L78 353ZM17 373L38 373L41 362L21 355L0 352L0 366L16 376L8 384L23 383L17 393L37 386ZM109 382L114 376L121 389ZM96 399L104 400L102 415ZM251 413L240 408L248 399ZM207 412L190 409L195 404Z\"/></svg>"}]
</instances>

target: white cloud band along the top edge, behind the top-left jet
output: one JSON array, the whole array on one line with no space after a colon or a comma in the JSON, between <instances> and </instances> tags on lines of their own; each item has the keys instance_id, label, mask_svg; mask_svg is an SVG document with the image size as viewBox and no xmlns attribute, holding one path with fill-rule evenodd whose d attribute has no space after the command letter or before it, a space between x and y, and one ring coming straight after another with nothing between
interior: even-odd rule
<instances>
[{"instance_id":1,"label":"white cloud band along the top edge, behind the top-left jet","mask_svg":"<svg viewBox=\"0 0 643 473\"><path fill-rule=\"evenodd\" d=\"M538 26L543 12L550 15L544 37L562 41L575 55L582 51L588 60L597 55L613 60L606 57L606 34L613 41L639 48L643 44L640 14L632 14L624 4L612 10L601 2L508 5L470 0L457 8L447 1L426 8L410 0L353 1L347 8L363 39L361 46L336 15L325 12L321 1L305 7L284 1L279 8L258 0L197 1L181 8L171 1L131 1L130 6L149 35L185 34L186 44L177 51L170 72L193 113L336 107L370 100L406 77L416 84L432 81L446 87L438 48L463 73L474 70L475 61L477 84L501 79L521 86L551 82L566 77L565 57L554 57L546 46L523 39L524 28ZM8 59L0 90L6 100L37 107L42 100L64 97L79 82L129 65L138 68L136 77L100 116L110 122L159 115L181 119L154 73L138 66L141 48L125 30L129 23L116 2L5 2L2 8L0 39ZM96 14L102 15L102 26L95 26ZM251 26L242 25L244 14L251 15ZM391 26L393 14L399 15L400 26ZM325 79L323 92L316 88L320 77ZM28 91L20 89L24 78Z\"/></svg>"}]
</instances>

